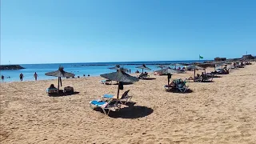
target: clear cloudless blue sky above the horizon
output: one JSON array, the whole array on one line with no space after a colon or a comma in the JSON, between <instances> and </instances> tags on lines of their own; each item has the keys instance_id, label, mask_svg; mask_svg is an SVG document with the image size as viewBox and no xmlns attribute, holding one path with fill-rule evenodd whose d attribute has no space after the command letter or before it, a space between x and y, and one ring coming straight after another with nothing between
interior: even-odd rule
<instances>
[{"instance_id":1,"label":"clear cloudless blue sky above the horizon","mask_svg":"<svg viewBox=\"0 0 256 144\"><path fill-rule=\"evenodd\" d=\"M1 64L256 54L255 0L2 0Z\"/></svg>"}]
</instances>

